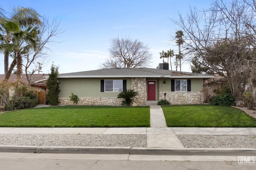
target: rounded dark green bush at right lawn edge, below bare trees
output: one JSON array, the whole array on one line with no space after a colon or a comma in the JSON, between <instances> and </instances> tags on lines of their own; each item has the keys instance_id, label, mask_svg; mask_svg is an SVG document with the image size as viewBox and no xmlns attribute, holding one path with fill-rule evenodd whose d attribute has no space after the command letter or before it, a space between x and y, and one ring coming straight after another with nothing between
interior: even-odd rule
<instances>
[{"instance_id":1,"label":"rounded dark green bush at right lawn edge, below bare trees","mask_svg":"<svg viewBox=\"0 0 256 170\"><path fill-rule=\"evenodd\" d=\"M235 96L230 94L220 94L212 98L212 105L217 106L235 106Z\"/></svg>"}]
</instances>

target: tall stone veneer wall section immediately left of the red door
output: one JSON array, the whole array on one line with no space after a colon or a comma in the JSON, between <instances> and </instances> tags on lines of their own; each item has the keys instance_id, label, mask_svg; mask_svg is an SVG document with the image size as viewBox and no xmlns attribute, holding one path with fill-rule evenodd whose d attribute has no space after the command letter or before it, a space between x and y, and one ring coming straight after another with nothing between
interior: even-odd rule
<instances>
[{"instance_id":1,"label":"tall stone veneer wall section immediately left of the red door","mask_svg":"<svg viewBox=\"0 0 256 170\"><path fill-rule=\"evenodd\" d=\"M146 105L147 102L147 81L145 77L132 77L131 89L138 92L139 95L135 96L134 103L137 105Z\"/></svg>"}]
</instances>

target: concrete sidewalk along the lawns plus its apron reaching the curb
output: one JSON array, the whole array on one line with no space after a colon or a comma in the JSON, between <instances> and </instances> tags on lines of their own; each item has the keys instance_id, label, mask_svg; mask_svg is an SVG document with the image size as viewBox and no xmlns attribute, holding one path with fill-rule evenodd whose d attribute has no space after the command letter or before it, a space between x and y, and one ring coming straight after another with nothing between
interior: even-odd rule
<instances>
[{"instance_id":1,"label":"concrete sidewalk along the lawns plus its apron reaching the curb","mask_svg":"<svg viewBox=\"0 0 256 170\"><path fill-rule=\"evenodd\" d=\"M147 135L148 148L184 148L176 135L256 135L256 128L222 127L0 127L2 134L141 134Z\"/></svg>"}]
</instances>

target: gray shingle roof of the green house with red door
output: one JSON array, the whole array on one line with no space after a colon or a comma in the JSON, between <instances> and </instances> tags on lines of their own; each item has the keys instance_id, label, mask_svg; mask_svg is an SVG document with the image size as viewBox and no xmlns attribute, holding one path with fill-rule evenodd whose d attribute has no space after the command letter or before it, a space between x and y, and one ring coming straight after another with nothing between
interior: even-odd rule
<instances>
[{"instance_id":1,"label":"gray shingle roof of the green house with red door","mask_svg":"<svg viewBox=\"0 0 256 170\"><path fill-rule=\"evenodd\" d=\"M101 70L91 70L83 72L72 72L59 74L58 78L72 78L72 77L159 77L159 76L205 76L206 74L197 74L191 72L179 72L172 70L161 70L155 68L106 68Z\"/></svg>"}]
</instances>

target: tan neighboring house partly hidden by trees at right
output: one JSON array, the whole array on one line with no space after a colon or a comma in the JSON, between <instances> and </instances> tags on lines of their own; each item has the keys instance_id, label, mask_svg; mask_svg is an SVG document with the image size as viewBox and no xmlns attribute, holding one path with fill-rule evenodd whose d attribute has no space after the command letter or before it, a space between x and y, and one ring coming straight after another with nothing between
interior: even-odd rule
<instances>
[{"instance_id":1,"label":"tan neighboring house partly hidden by trees at right","mask_svg":"<svg viewBox=\"0 0 256 170\"><path fill-rule=\"evenodd\" d=\"M219 74L214 74L214 78L209 78L208 80L204 80L204 86L207 89L207 93L205 93L205 99L210 100L216 94L213 92L214 90L220 90L222 87L222 81L224 80L223 76Z\"/></svg>"}]
</instances>

